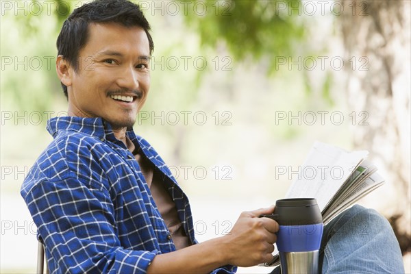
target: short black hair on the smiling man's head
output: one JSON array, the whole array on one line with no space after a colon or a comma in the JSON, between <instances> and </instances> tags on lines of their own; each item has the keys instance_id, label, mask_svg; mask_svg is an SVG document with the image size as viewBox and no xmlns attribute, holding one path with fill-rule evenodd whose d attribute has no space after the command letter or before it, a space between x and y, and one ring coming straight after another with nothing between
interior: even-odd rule
<instances>
[{"instance_id":1,"label":"short black hair on the smiling man's head","mask_svg":"<svg viewBox=\"0 0 411 274\"><path fill-rule=\"evenodd\" d=\"M86 45L90 23L119 23L125 27L142 27L149 39L150 55L154 50L153 38L149 34L150 24L145 18L139 5L127 0L95 0L76 8L69 18L64 21L62 30L57 38L58 55L79 69L79 51ZM67 87L62 84L66 97Z\"/></svg>"}]
</instances>

